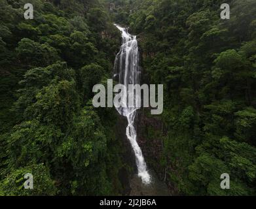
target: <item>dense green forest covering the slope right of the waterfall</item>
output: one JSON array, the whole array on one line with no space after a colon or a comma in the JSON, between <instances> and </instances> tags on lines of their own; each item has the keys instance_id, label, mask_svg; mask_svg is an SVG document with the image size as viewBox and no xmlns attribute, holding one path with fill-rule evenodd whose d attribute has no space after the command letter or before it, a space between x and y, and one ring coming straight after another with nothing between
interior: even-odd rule
<instances>
[{"instance_id":1,"label":"dense green forest covering the slope right of the waterfall","mask_svg":"<svg viewBox=\"0 0 256 209\"><path fill-rule=\"evenodd\" d=\"M162 116L141 126L149 165L174 195L255 195L256 1L111 3L139 37L143 81L164 84Z\"/></svg>"}]
</instances>

